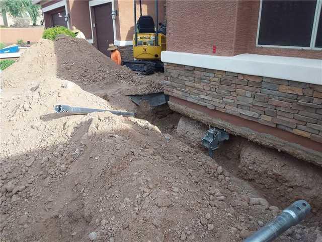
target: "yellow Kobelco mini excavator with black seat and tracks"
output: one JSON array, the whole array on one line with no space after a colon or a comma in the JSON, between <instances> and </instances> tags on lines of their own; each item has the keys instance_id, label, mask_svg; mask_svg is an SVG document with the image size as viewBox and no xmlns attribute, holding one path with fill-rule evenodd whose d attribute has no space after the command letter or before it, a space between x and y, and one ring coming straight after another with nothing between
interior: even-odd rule
<instances>
[{"instance_id":1,"label":"yellow Kobelco mini excavator with black seat and tracks","mask_svg":"<svg viewBox=\"0 0 322 242\"><path fill-rule=\"evenodd\" d=\"M158 6L155 0L155 20L149 15L142 15L142 3L140 4L140 17L136 21L136 0L134 2L134 34L133 34L133 58L134 61L125 61L123 65L132 71L149 75L155 71L163 71L161 51L167 48L166 26L158 22ZM160 28L158 28L160 26Z\"/></svg>"}]
</instances>

